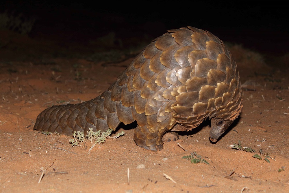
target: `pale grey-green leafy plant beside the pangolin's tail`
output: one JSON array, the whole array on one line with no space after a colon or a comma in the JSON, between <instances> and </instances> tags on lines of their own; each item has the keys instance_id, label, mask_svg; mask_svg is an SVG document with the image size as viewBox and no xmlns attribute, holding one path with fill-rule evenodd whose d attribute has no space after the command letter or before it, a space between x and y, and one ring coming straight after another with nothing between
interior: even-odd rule
<instances>
[{"instance_id":1,"label":"pale grey-green leafy plant beside the pangolin's tail","mask_svg":"<svg viewBox=\"0 0 289 193\"><path fill-rule=\"evenodd\" d=\"M94 132L92 128L89 128L89 131L87 132L86 136L84 136L84 132L73 132L72 136L74 139L70 139L69 143L71 143L71 146L74 145L82 146L82 143L88 139L91 143L97 144L97 143L104 143L108 138L118 138L121 135L124 135L125 132L121 131L115 136L110 136L112 133L112 129L108 129L105 132L96 131ZM93 145L93 146L94 146ZM91 148L92 149L92 148Z\"/></svg>"}]
</instances>

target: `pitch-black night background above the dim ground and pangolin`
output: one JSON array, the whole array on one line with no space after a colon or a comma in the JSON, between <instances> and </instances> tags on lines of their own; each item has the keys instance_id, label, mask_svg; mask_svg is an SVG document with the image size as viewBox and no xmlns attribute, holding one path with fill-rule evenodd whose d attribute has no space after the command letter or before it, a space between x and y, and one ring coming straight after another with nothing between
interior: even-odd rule
<instances>
[{"instance_id":1,"label":"pitch-black night background above the dim ground and pangolin","mask_svg":"<svg viewBox=\"0 0 289 193\"><path fill-rule=\"evenodd\" d=\"M122 1L124 2L124 1ZM285 5L204 2L134 1L134 3L52 3L4 1L0 12L35 17L28 34L58 45L87 45L91 39L115 32L123 47L137 44L131 37L154 39L173 28L194 26L208 30L223 41L240 43L264 54L288 52L288 12ZM128 39L130 38L130 39ZM128 39L128 41L125 41Z\"/></svg>"}]
</instances>

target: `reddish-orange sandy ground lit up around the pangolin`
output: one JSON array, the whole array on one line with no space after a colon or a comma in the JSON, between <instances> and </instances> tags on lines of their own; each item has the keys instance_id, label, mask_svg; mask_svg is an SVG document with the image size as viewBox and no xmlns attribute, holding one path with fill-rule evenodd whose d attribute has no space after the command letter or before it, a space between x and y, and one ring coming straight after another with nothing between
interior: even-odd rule
<instances>
[{"instance_id":1,"label":"reddish-orange sandy ground lit up around the pangolin","mask_svg":"<svg viewBox=\"0 0 289 193\"><path fill-rule=\"evenodd\" d=\"M77 57L0 60L0 192L289 192L289 70L282 59L274 60L277 68L240 46L230 49L244 86L239 118L215 144L206 122L159 152L139 148L130 125L90 154L90 143L71 147L71 137L33 131L42 110L97 97L132 58L105 67ZM2 55L11 50L1 48ZM270 154L270 163L229 147L239 140ZM209 165L182 159L192 152Z\"/></svg>"}]
</instances>

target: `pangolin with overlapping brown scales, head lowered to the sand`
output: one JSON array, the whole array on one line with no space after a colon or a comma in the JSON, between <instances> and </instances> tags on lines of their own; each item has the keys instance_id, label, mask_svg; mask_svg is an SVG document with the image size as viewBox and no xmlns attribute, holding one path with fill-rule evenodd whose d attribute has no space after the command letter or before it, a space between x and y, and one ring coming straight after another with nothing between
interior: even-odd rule
<instances>
[{"instance_id":1,"label":"pangolin with overlapping brown scales, head lowered to the sand","mask_svg":"<svg viewBox=\"0 0 289 193\"><path fill-rule=\"evenodd\" d=\"M154 39L95 99L45 109L34 130L70 136L136 121L135 143L158 151L165 133L165 142L175 141L178 135L170 131L191 130L209 118L210 140L216 142L240 114L242 93L236 62L224 43L188 26Z\"/></svg>"}]
</instances>

